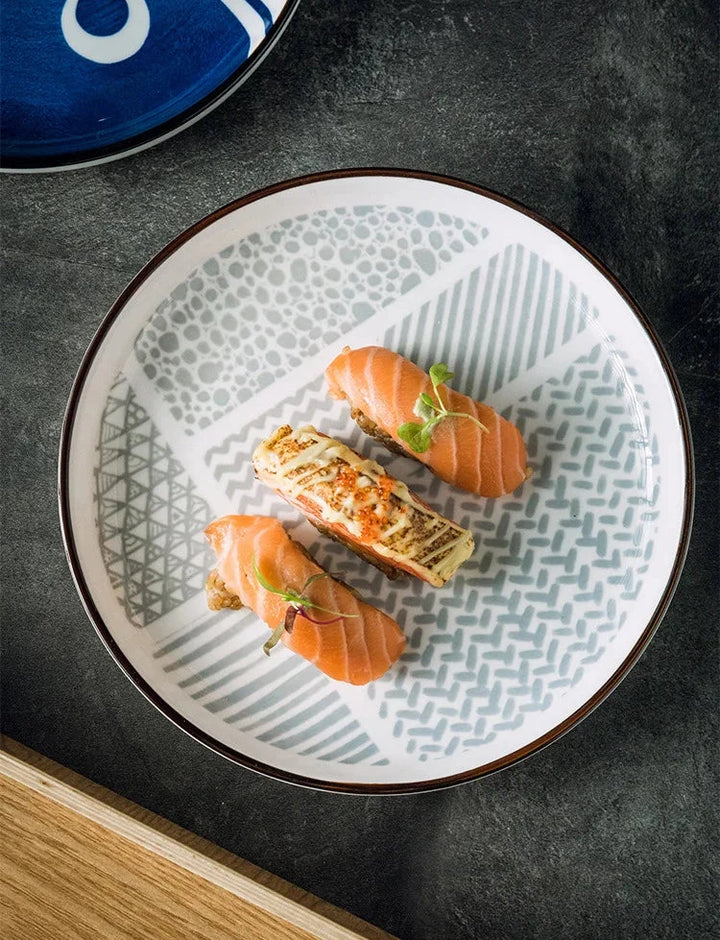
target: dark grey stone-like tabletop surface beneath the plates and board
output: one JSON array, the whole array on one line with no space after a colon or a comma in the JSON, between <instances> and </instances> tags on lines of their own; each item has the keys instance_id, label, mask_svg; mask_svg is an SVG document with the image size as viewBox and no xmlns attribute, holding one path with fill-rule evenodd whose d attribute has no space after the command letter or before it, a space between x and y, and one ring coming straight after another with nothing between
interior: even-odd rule
<instances>
[{"instance_id":1,"label":"dark grey stone-like tabletop surface beneath the plates and board","mask_svg":"<svg viewBox=\"0 0 720 940\"><path fill-rule=\"evenodd\" d=\"M3 731L406 940L717 936L717 87L701 0L305 0L180 136L3 177ZM87 621L56 511L74 372L130 277L223 203L363 165L485 185L585 244L664 341L697 460L685 573L630 676L529 761L415 797L285 786L177 730Z\"/></svg>"}]
</instances>

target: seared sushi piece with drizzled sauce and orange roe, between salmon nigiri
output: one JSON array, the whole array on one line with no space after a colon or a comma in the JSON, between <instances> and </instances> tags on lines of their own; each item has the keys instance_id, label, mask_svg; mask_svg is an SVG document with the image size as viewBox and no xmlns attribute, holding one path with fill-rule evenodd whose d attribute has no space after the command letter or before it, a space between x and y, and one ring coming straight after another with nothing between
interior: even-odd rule
<instances>
[{"instance_id":1,"label":"seared sushi piece with drizzled sauce and orange roe, between salmon nigiri","mask_svg":"<svg viewBox=\"0 0 720 940\"><path fill-rule=\"evenodd\" d=\"M314 427L278 428L253 455L259 480L320 531L388 577L408 572L441 587L473 552L472 534L407 486Z\"/></svg>"}]
</instances>

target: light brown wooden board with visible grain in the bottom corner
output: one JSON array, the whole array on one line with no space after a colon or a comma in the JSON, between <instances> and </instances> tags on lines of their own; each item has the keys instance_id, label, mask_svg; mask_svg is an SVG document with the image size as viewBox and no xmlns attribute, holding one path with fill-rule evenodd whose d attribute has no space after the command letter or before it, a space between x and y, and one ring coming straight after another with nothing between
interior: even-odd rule
<instances>
[{"instance_id":1,"label":"light brown wooden board with visible grain in the bottom corner","mask_svg":"<svg viewBox=\"0 0 720 940\"><path fill-rule=\"evenodd\" d=\"M3 940L393 940L8 738Z\"/></svg>"}]
</instances>

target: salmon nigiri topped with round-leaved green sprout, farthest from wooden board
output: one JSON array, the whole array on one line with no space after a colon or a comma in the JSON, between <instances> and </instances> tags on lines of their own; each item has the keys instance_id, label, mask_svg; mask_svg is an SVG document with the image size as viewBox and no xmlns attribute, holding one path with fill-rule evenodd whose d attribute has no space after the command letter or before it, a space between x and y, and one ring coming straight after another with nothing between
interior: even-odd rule
<instances>
[{"instance_id":1,"label":"salmon nigiri topped with round-leaved green sprout, farthest from wooden board","mask_svg":"<svg viewBox=\"0 0 720 940\"><path fill-rule=\"evenodd\" d=\"M520 432L489 405L380 346L348 346L325 371L333 398L345 398L363 431L426 464L441 480L479 496L503 496L528 478Z\"/></svg>"}]
</instances>

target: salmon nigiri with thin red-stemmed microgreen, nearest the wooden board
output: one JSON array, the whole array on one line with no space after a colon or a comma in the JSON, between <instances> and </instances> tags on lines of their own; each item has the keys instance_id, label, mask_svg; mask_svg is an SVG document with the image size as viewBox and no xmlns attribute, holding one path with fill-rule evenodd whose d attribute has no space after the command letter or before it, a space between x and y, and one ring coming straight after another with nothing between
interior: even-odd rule
<instances>
[{"instance_id":1,"label":"salmon nigiri with thin red-stemmed microgreen, nearest the wooden board","mask_svg":"<svg viewBox=\"0 0 720 940\"><path fill-rule=\"evenodd\" d=\"M277 519L223 516L205 535L217 555L208 579L212 606L237 607L239 598L331 679L364 685L402 655L397 623L316 565Z\"/></svg>"}]
</instances>

